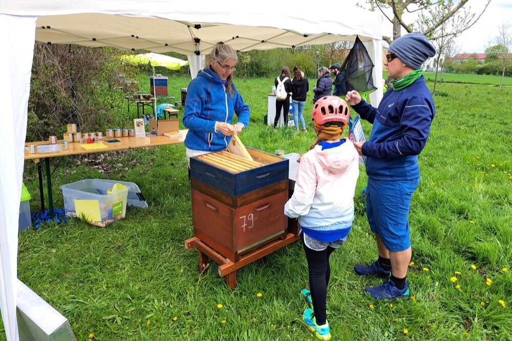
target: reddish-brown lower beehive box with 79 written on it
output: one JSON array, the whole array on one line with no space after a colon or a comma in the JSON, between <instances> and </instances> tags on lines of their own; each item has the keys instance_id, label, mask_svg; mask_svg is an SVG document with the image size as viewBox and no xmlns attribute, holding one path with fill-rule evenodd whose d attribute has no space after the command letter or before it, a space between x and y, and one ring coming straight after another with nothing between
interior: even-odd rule
<instances>
[{"instance_id":1,"label":"reddish-brown lower beehive box with 79 written on it","mask_svg":"<svg viewBox=\"0 0 512 341\"><path fill-rule=\"evenodd\" d=\"M281 188L286 184L271 186ZM270 193L272 188L257 191L260 194ZM258 193L252 195L259 196ZM264 195L263 198L242 206L237 206L236 198L233 200L236 207L230 207L193 188L194 235L233 261L238 261L241 255L272 240L286 237L288 219L283 211L288 200L288 190Z\"/></svg>"}]
</instances>

